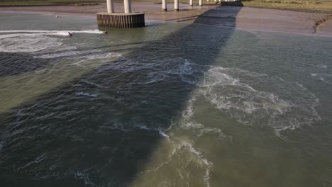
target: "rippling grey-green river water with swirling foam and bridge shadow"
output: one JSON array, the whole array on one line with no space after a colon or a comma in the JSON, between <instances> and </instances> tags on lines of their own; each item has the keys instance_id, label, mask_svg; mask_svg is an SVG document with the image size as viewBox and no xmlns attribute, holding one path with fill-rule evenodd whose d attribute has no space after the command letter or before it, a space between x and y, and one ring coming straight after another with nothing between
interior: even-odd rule
<instances>
[{"instance_id":1,"label":"rippling grey-green river water with swirling foam and bridge shadow","mask_svg":"<svg viewBox=\"0 0 332 187\"><path fill-rule=\"evenodd\" d=\"M1 186L332 186L330 37L0 21Z\"/></svg>"}]
</instances>

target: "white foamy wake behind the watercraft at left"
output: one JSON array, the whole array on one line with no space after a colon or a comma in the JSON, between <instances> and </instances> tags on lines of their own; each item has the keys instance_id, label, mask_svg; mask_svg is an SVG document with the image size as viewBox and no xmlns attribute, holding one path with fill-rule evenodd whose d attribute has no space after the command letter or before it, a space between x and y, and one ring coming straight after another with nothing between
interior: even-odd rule
<instances>
[{"instance_id":1,"label":"white foamy wake behind the watercraft at left","mask_svg":"<svg viewBox=\"0 0 332 187\"><path fill-rule=\"evenodd\" d=\"M102 33L99 30L70 30L70 32ZM64 57L94 60L110 57L109 54L101 54L100 50L77 50L76 46L63 45L61 38L52 37L67 35L67 30L0 30L0 52L32 52L36 58Z\"/></svg>"}]
</instances>

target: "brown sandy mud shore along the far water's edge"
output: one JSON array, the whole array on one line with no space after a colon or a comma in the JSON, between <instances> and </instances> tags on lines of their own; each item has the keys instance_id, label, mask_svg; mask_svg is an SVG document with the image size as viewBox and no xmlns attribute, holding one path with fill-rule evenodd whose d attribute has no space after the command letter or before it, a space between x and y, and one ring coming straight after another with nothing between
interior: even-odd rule
<instances>
[{"instance_id":1,"label":"brown sandy mud shore along the far water's edge","mask_svg":"<svg viewBox=\"0 0 332 187\"><path fill-rule=\"evenodd\" d=\"M116 11L123 10L123 4L115 4ZM145 12L147 20L175 21L192 23L201 16L199 23L216 26L230 26L255 30L275 30L294 33L315 33L332 35L332 20L314 26L327 14L306 13L299 11L282 11L264 8L248 8L236 6L189 6L180 4L181 11L173 11L173 4L167 4L168 11L162 12L161 4L155 2L133 2L133 11ZM106 11L106 4L94 6L11 6L0 7L0 13L52 13L52 14L84 14L94 16ZM206 12L209 11L209 12Z\"/></svg>"}]
</instances>

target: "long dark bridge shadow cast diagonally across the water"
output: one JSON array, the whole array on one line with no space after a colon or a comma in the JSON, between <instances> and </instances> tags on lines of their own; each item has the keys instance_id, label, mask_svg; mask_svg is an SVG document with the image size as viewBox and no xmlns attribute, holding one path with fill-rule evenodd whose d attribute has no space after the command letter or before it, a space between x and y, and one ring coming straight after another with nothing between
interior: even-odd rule
<instances>
[{"instance_id":1,"label":"long dark bridge shadow cast diagonally across the water","mask_svg":"<svg viewBox=\"0 0 332 187\"><path fill-rule=\"evenodd\" d=\"M206 11L193 24L146 42L126 54L125 60L115 62L139 62L140 66L162 62L157 72L131 71L137 68L135 63L118 69L107 64L2 113L1 186L131 186L165 138L159 131L167 131L181 115L197 87L192 82L204 78L233 34L234 28L204 25L222 19L227 19L227 26L235 25L236 16L220 18L218 13L217 9ZM135 29L136 35L140 32L144 28ZM184 71L185 62L199 71L194 77L158 74L173 65L181 68L180 61ZM103 68L106 72L100 74ZM162 81L137 81L146 81L148 74L161 76ZM84 94L87 88L103 97ZM77 93L87 96L86 101L70 97Z\"/></svg>"}]
</instances>

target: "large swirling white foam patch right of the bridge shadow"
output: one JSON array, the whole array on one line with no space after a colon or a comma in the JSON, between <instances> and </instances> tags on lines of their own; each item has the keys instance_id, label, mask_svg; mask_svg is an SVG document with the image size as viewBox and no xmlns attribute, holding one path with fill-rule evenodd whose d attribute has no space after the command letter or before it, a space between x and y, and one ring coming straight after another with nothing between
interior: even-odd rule
<instances>
[{"instance_id":1,"label":"large swirling white foam patch right of the bridge shadow","mask_svg":"<svg viewBox=\"0 0 332 187\"><path fill-rule=\"evenodd\" d=\"M276 94L259 91L245 81L254 84L264 81L267 84L275 85L273 89L276 91L284 90L285 92ZM228 113L238 123L267 125L275 130L276 135L280 135L282 130L294 130L301 125L312 125L321 119L315 109L319 104L319 99L306 90L303 85L287 82L280 77L273 78L266 74L237 68L212 66L198 86L199 89L194 91L187 104L187 109L182 113L181 126L182 128L200 129L199 135L212 130L196 123L192 118L194 115L193 103L201 97L209 101L214 108ZM289 87L294 93L286 93ZM218 132L218 128L213 130ZM220 135L224 136L222 133Z\"/></svg>"}]
</instances>

